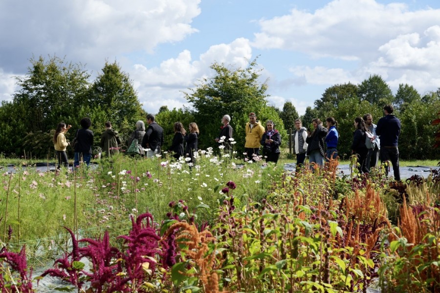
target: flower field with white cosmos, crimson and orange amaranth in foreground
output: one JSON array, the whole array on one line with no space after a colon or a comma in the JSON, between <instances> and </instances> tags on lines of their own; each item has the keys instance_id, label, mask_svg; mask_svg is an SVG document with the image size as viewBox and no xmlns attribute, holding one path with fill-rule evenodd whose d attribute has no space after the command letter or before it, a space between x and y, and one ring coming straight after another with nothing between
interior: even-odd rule
<instances>
[{"instance_id":1,"label":"flower field with white cosmos, crimson and orange amaranth in foreground","mask_svg":"<svg viewBox=\"0 0 440 293\"><path fill-rule=\"evenodd\" d=\"M438 172L170 158L3 173L3 292L38 292L30 268L55 260L73 292L440 292Z\"/></svg>"}]
</instances>

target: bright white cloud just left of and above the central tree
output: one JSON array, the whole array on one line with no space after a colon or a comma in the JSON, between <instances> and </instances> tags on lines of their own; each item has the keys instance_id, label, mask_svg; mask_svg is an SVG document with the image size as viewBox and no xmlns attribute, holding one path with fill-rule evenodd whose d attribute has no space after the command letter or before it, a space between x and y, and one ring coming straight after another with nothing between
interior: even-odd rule
<instances>
[{"instance_id":1,"label":"bright white cloud just left of and above the central tree","mask_svg":"<svg viewBox=\"0 0 440 293\"><path fill-rule=\"evenodd\" d=\"M209 66L214 63L233 64L244 67L252 57L249 40L239 38L229 44L211 46L198 60L193 60L191 52L184 50L177 58L160 63L158 67L147 68L143 64L133 66L130 76L135 81L139 101L149 112L157 112L161 105L169 109L189 106L182 91L197 84L203 77L209 77L214 71Z\"/></svg>"}]
</instances>

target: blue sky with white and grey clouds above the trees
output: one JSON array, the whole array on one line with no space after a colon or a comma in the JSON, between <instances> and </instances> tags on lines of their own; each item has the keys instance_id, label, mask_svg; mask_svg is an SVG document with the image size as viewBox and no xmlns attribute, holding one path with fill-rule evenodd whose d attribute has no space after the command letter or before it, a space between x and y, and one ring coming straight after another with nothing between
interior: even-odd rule
<instances>
[{"instance_id":1,"label":"blue sky with white and grey clouds above the trees","mask_svg":"<svg viewBox=\"0 0 440 293\"><path fill-rule=\"evenodd\" d=\"M116 61L149 113L191 106L212 63L257 59L269 105L300 115L334 84L380 75L423 95L440 87L439 0L0 0L0 100L43 56ZM258 109L255 110L258 115Z\"/></svg>"}]
</instances>

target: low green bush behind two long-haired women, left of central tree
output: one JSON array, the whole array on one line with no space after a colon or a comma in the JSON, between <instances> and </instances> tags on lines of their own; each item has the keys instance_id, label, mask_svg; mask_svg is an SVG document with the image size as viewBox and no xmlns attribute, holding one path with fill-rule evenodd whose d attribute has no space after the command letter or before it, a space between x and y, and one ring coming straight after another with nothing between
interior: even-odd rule
<instances>
[{"instance_id":1,"label":"low green bush behind two long-haired women, left of central tree","mask_svg":"<svg viewBox=\"0 0 440 293\"><path fill-rule=\"evenodd\" d=\"M166 107L166 106L162 106ZM194 113L188 108L180 108L173 110L168 110L168 107L162 108L160 107L159 113L155 115L155 121L157 124L162 126L163 128L163 138L164 143L162 146L163 150L168 150L171 146L174 137L174 124L176 122L180 122L186 131L189 131L188 125L191 122L195 122ZM199 126L199 125L198 125ZM147 127L147 126L145 126ZM203 133L199 134L199 137L203 136Z\"/></svg>"}]
</instances>

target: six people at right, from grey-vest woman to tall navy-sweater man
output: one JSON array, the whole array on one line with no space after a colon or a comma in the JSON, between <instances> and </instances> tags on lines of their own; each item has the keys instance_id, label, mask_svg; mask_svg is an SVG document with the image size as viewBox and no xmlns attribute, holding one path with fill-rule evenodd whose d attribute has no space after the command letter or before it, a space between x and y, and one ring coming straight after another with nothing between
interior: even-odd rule
<instances>
[{"instance_id":1,"label":"six people at right, from grey-vest woman to tall navy-sweater man","mask_svg":"<svg viewBox=\"0 0 440 293\"><path fill-rule=\"evenodd\" d=\"M392 105L383 107L384 117L380 118L377 125L373 124L373 115L365 114L363 117L354 118L352 154L358 158L358 170L362 173L369 173L371 167L391 161L394 170L394 177L400 180L399 172L399 151L398 137L400 134L400 120L393 114ZM337 144L339 133L338 123L333 117L326 119L326 126L320 119L312 120L313 131L302 126L300 119L295 120L295 131L293 135L293 148L297 158L297 170L304 166L306 155L308 155L310 168L312 163L319 166L324 160L335 159L338 156ZM388 167L385 168L388 175Z\"/></svg>"}]
</instances>

